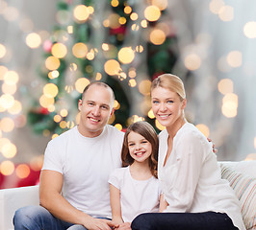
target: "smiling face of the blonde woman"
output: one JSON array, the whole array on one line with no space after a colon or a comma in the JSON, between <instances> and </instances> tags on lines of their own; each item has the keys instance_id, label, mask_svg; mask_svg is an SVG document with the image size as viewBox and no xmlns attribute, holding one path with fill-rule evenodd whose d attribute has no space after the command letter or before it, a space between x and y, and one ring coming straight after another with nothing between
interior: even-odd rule
<instances>
[{"instance_id":1,"label":"smiling face of the blonde woman","mask_svg":"<svg viewBox=\"0 0 256 230\"><path fill-rule=\"evenodd\" d=\"M153 113L158 122L164 127L171 127L180 118L186 107L186 99L181 102L176 92L163 87L156 87L151 92Z\"/></svg>"}]
</instances>

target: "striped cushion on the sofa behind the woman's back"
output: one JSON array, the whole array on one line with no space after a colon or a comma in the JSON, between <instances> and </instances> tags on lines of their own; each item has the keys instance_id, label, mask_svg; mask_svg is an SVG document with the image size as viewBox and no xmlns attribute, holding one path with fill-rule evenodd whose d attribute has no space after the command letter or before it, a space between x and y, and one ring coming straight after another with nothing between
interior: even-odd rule
<instances>
[{"instance_id":1,"label":"striped cushion on the sofa behind the woman's back","mask_svg":"<svg viewBox=\"0 0 256 230\"><path fill-rule=\"evenodd\" d=\"M237 172L232 167L220 164L221 177L229 181L241 203L241 213L246 229L256 228L256 178Z\"/></svg>"}]
</instances>

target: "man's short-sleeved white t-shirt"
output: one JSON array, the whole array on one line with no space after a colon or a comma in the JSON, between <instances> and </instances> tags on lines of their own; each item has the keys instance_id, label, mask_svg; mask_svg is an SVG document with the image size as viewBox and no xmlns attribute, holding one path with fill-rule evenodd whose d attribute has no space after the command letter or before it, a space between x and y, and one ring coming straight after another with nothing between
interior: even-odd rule
<instances>
[{"instance_id":1,"label":"man's short-sleeved white t-shirt","mask_svg":"<svg viewBox=\"0 0 256 230\"><path fill-rule=\"evenodd\" d=\"M72 206L94 218L111 218L108 179L121 167L123 135L107 125L89 138L73 127L48 143L42 170L63 174L63 196Z\"/></svg>"}]
</instances>

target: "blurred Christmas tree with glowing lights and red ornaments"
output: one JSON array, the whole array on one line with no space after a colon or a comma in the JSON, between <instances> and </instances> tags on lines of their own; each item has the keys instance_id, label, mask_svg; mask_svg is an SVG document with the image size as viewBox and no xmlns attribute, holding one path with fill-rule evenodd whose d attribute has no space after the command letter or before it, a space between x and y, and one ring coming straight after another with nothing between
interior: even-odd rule
<instances>
[{"instance_id":1,"label":"blurred Christmas tree with glowing lights and red ornaments","mask_svg":"<svg viewBox=\"0 0 256 230\"><path fill-rule=\"evenodd\" d=\"M170 73L176 37L166 16L167 1L60 1L59 24L43 43L38 75L45 81L28 121L35 132L59 135L79 119L78 100L90 81L115 91L110 124L122 129L145 120L150 111L150 82Z\"/></svg>"}]
</instances>

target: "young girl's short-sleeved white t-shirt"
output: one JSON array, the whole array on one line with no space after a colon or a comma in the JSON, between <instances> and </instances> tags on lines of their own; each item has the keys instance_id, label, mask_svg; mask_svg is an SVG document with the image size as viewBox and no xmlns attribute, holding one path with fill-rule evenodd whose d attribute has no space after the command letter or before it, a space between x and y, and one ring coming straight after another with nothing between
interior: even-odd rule
<instances>
[{"instance_id":1,"label":"young girl's short-sleeved white t-shirt","mask_svg":"<svg viewBox=\"0 0 256 230\"><path fill-rule=\"evenodd\" d=\"M141 213L159 211L160 185L152 176L147 180L136 180L130 173L130 167L116 169L109 183L120 191L121 214L124 222L131 222Z\"/></svg>"}]
</instances>

